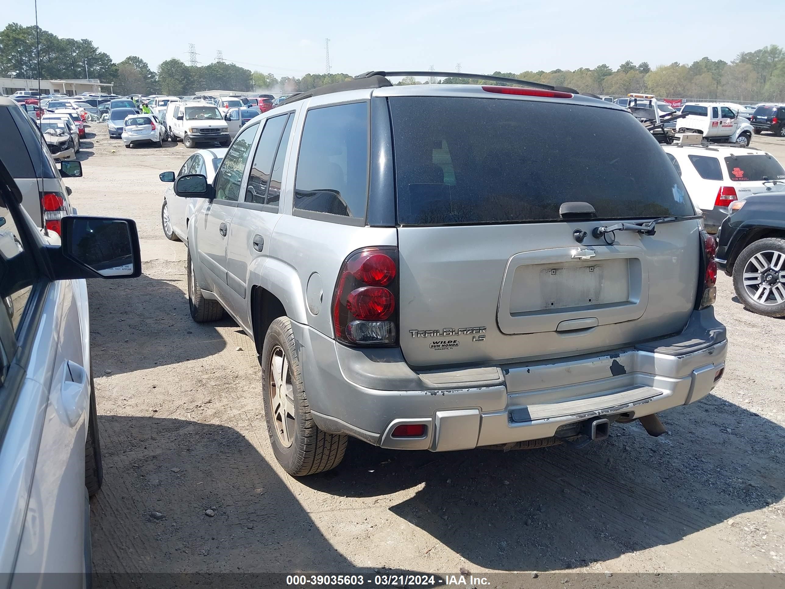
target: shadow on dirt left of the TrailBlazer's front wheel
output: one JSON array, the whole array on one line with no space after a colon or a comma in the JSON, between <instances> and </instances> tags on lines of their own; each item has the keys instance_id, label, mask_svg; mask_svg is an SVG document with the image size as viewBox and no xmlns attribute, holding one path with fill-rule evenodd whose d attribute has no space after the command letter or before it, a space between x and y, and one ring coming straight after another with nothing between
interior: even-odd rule
<instances>
[{"instance_id":1,"label":"shadow on dirt left of the TrailBlazer's front wheel","mask_svg":"<svg viewBox=\"0 0 785 589\"><path fill-rule=\"evenodd\" d=\"M216 327L188 311L185 276L156 280L88 280L90 339L96 376L120 374L213 356L226 347Z\"/></svg>"}]
</instances>

